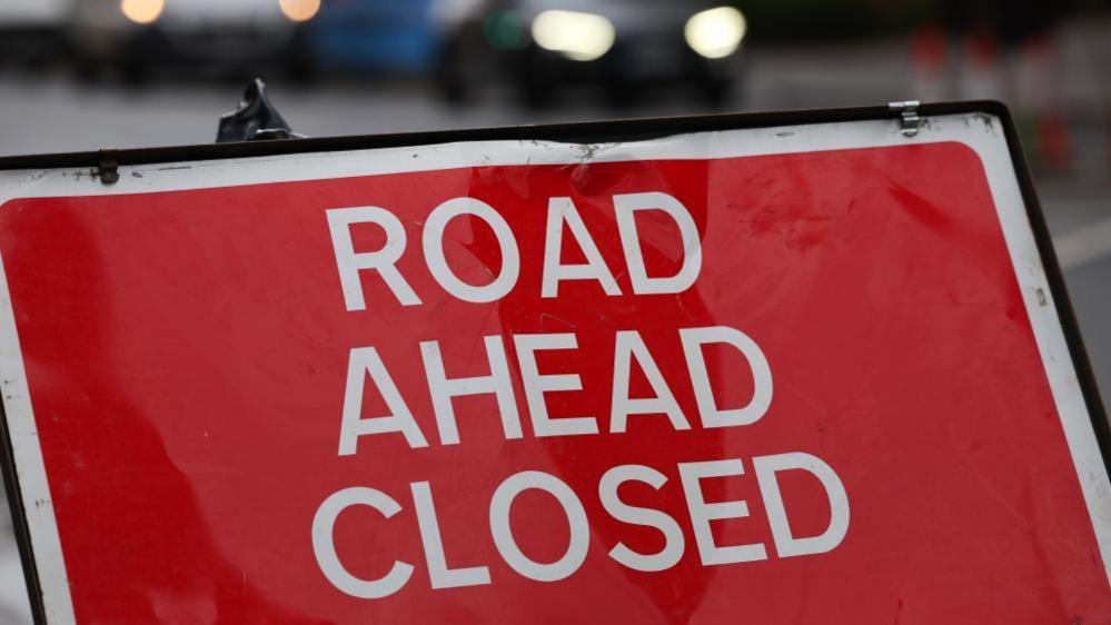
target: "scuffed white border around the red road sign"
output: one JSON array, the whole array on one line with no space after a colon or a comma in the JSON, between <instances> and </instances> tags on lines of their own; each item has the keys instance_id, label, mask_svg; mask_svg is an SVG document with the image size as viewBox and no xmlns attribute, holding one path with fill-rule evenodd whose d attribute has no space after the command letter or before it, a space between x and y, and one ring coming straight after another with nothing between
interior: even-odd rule
<instances>
[{"instance_id":1,"label":"scuffed white border around the red road sign","mask_svg":"<svg viewBox=\"0 0 1111 625\"><path fill-rule=\"evenodd\" d=\"M122 166L120 180L112 186L101 185L88 168L0 171L0 205L16 198L115 196L483 166L701 160L936 142L963 143L983 162L1111 583L1111 482L996 116L969 112L931 117L915 137L905 137L899 121L889 119L698 131L617 143L467 141ZM47 623L70 625L76 622L73 605L2 266L0 258L0 385L8 431Z\"/></svg>"}]
</instances>

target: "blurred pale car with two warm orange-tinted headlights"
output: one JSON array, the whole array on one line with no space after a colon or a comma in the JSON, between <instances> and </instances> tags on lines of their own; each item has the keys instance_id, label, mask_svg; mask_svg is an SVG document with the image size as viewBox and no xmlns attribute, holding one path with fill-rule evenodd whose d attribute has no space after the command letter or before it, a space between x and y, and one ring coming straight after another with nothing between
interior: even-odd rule
<instances>
[{"instance_id":1,"label":"blurred pale car with two warm orange-tinted headlights","mask_svg":"<svg viewBox=\"0 0 1111 625\"><path fill-rule=\"evenodd\" d=\"M69 41L85 77L118 71L142 81L172 66L257 71L265 63L301 76L313 70L301 26L319 9L320 0L78 0Z\"/></svg>"}]
</instances>

